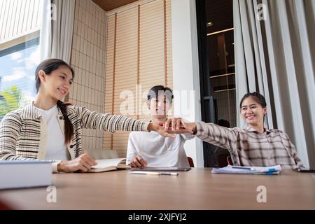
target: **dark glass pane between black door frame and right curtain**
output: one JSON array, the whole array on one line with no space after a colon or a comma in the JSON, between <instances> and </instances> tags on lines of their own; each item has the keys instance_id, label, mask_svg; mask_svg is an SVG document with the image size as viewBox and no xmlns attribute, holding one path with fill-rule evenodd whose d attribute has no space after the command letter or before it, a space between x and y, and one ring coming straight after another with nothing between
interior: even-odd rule
<instances>
[{"instance_id":1,"label":"dark glass pane between black door frame and right curtain","mask_svg":"<svg viewBox=\"0 0 315 224\"><path fill-rule=\"evenodd\" d=\"M235 54L232 0L205 1L207 61L216 119L236 127ZM219 124L220 125L220 124Z\"/></svg>"}]
</instances>

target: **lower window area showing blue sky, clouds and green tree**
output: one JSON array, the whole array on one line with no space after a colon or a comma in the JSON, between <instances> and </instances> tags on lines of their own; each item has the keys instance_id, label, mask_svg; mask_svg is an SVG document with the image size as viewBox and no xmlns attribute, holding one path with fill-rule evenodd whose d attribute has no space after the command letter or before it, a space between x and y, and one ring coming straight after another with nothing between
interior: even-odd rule
<instances>
[{"instance_id":1,"label":"lower window area showing blue sky, clouds and green tree","mask_svg":"<svg viewBox=\"0 0 315 224\"><path fill-rule=\"evenodd\" d=\"M0 51L0 120L34 100L39 59L38 37Z\"/></svg>"}]
</instances>

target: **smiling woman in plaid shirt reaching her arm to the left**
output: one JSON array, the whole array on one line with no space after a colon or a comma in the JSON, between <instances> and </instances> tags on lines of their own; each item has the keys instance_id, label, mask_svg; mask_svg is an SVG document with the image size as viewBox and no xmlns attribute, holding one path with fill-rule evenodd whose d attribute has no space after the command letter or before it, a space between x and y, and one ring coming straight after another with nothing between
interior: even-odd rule
<instances>
[{"instance_id":1,"label":"smiling woman in plaid shirt reaching her arm to the left","mask_svg":"<svg viewBox=\"0 0 315 224\"><path fill-rule=\"evenodd\" d=\"M167 120L165 128L176 132L191 130L196 137L215 146L226 148L232 162L238 166L302 167L288 134L281 130L264 127L267 113L265 97L258 92L249 92L241 99L241 117L247 123L245 129L221 127L212 123L184 123L181 118Z\"/></svg>"}]
</instances>

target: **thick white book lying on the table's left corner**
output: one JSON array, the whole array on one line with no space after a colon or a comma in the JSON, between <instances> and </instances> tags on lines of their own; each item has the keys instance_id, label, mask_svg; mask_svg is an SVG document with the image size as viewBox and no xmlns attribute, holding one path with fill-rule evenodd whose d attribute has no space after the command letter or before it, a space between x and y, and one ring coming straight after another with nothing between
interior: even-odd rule
<instances>
[{"instance_id":1,"label":"thick white book lying on the table's left corner","mask_svg":"<svg viewBox=\"0 0 315 224\"><path fill-rule=\"evenodd\" d=\"M52 184L52 164L45 161L0 161L0 189Z\"/></svg>"}]
</instances>

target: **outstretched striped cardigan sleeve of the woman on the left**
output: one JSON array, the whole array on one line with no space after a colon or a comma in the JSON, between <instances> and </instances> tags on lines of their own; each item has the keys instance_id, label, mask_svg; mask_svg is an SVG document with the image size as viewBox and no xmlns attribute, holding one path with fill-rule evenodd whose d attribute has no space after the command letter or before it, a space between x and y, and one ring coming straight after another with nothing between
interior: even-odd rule
<instances>
[{"instance_id":1,"label":"outstretched striped cardigan sleeve of the woman on the left","mask_svg":"<svg viewBox=\"0 0 315 224\"><path fill-rule=\"evenodd\" d=\"M81 127L104 130L108 132L116 131L142 131L147 132L148 122L128 118L122 115L110 115L108 113L97 113L89 111L84 107L80 111Z\"/></svg>"}]
</instances>

